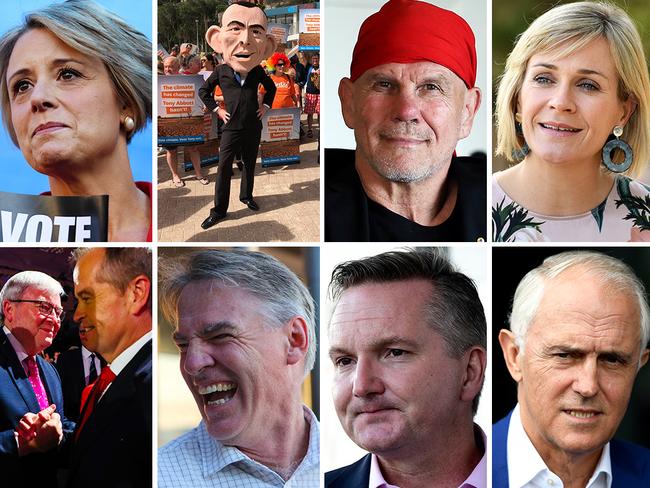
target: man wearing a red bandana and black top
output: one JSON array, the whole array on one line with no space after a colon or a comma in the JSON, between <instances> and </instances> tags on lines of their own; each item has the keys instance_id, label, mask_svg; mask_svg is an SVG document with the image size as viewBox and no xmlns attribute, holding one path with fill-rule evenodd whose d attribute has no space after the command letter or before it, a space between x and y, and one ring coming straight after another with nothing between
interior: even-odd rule
<instances>
[{"instance_id":1,"label":"man wearing a red bandana and black top","mask_svg":"<svg viewBox=\"0 0 650 488\"><path fill-rule=\"evenodd\" d=\"M390 0L361 26L339 85L356 151L325 150L325 240L485 238L485 161L456 157L480 106L470 26Z\"/></svg>"}]
</instances>

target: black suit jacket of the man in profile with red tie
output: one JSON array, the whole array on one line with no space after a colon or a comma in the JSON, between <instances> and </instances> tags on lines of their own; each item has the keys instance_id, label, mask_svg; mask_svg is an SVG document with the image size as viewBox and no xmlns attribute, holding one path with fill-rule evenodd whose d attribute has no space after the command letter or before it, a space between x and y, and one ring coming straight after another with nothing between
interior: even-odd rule
<instances>
[{"instance_id":1,"label":"black suit jacket of the man in profile with red tie","mask_svg":"<svg viewBox=\"0 0 650 488\"><path fill-rule=\"evenodd\" d=\"M69 452L67 487L151 486L151 341L117 375Z\"/></svg>"}]
</instances>

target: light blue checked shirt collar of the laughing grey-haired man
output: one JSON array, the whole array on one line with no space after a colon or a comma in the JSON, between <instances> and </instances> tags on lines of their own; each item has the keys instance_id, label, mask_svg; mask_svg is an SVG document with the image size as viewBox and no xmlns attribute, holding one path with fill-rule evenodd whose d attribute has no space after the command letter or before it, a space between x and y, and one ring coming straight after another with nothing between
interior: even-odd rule
<instances>
[{"instance_id":1,"label":"light blue checked shirt collar of the laughing grey-haired man","mask_svg":"<svg viewBox=\"0 0 650 488\"><path fill-rule=\"evenodd\" d=\"M305 412L305 418L309 422L309 447L307 448L307 454L305 454L305 457L300 462L294 475L299 471L318 466L320 462L320 429L318 419L304 405L303 410ZM227 466L238 462L251 463L260 469L271 471L270 468L249 458L236 447L224 446L221 442L210 436L204 420L201 420L201 424L199 425L198 440L203 464L203 477L205 479L208 479Z\"/></svg>"}]
</instances>

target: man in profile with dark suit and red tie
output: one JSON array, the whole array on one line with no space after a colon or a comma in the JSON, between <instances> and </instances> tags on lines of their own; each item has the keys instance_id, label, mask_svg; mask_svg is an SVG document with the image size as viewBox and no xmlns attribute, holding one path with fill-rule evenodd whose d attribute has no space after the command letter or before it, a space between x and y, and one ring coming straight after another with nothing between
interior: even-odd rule
<instances>
[{"instance_id":1,"label":"man in profile with dark suit and red tie","mask_svg":"<svg viewBox=\"0 0 650 488\"><path fill-rule=\"evenodd\" d=\"M65 486L151 486L151 251L78 249L74 258L74 319L108 364L84 392Z\"/></svg>"}]
</instances>

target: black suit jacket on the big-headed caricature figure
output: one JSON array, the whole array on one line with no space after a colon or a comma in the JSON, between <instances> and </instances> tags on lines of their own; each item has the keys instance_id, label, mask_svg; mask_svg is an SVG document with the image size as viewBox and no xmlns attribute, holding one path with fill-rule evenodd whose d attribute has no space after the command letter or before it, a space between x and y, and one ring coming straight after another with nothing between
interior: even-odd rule
<instances>
[{"instance_id":1,"label":"black suit jacket on the big-headed caricature figure","mask_svg":"<svg viewBox=\"0 0 650 488\"><path fill-rule=\"evenodd\" d=\"M217 108L217 102L214 101L213 97L214 89L217 86L221 87L226 102L226 110L230 114L230 120L223 126L223 130L249 128L260 130L262 122L257 117L257 110L259 109L257 92L260 83L266 90L263 103L271 107L276 87L273 80L264 72L264 68L255 66L246 76L246 81L242 86L235 78L234 70L227 64L220 64L199 89L199 96L208 110L212 112Z\"/></svg>"}]
</instances>

